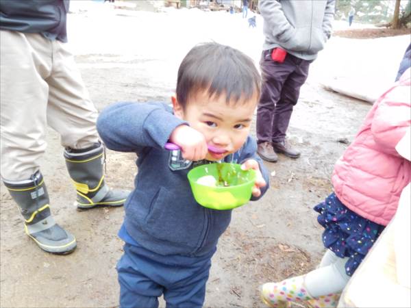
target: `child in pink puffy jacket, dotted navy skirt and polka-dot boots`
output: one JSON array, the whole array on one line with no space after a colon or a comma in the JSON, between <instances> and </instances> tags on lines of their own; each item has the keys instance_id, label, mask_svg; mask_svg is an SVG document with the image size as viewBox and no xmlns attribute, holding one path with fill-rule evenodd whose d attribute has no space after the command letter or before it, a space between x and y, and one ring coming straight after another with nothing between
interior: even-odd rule
<instances>
[{"instance_id":1,"label":"child in pink puffy jacket, dotted navy skirt and polka-dot boots","mask_svg":"<svg viewBox=\"0 0 411 308\"><path fill-rule=\"evenodd\" d=\"M411 179L411 163L395 146L411 124L410 69L382 94L355 140L338 160L334 192L314 207L325 228L327 248L319 268L279 283L264 283L261 298L270 307L290 302L336 307L338 294L397 210Z\"/></svg>"}]
</instances>

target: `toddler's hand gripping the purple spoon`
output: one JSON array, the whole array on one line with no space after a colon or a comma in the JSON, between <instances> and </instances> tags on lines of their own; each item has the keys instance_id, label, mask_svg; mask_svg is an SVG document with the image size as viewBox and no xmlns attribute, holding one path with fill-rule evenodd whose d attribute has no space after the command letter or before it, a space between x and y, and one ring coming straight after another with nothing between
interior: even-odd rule
<instances>
[{"instance_id":1,"label":"toddler's hand gripping the purple spoon","mask_svg":"<svg viewBox=\"0 0 411 308\"><path fill-rule=\"evenodd\" d=\"M188 160L206 158L208 153L206 138L188 125L177 126L171 133L170 141L182 148L182 156Z\"/></svg>"}]
</instances>

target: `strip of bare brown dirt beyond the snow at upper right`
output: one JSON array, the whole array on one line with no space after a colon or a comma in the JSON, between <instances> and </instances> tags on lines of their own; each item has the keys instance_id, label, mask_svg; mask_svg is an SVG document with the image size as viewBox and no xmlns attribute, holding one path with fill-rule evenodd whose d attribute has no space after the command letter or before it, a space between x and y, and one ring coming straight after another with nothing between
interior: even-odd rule
<instances>
[{"instance_id":1,"label":"strip of bare brown dirt beyond the snow at upper right","mask_svg":"<svg viewBox=\"0 0 411 308\"><path fill-rule=\"evenodd\" d=\"M386 36L403 36L411 34L411 29L388 29L388 28L372 28L372 29L347 29L334 31L334 36L340 38L384 38Z\"/></svg>"}]
</instances>

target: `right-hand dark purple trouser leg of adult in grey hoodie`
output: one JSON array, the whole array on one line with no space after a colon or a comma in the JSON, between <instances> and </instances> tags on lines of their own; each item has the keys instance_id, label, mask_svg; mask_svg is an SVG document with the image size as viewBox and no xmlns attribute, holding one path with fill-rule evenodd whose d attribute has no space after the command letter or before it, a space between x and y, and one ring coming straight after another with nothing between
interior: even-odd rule
<instances>
[{"instance_id":1,"label":"right-hand dark purple trouser leg of adult in grey hoodie","mask_svg":"<svg viewBox=\"0 0 411 308\"><path fill-rule=\"evenodd\" d=\"M286 62L290 68L294 68L287 76L277 99L273 115L273 129L271 141L284 142L286 131L292 114L292 109L297 104L301 86L308 77L310 61L299 59L293 55L286 56Z\"/></svg>"}]
</instances>

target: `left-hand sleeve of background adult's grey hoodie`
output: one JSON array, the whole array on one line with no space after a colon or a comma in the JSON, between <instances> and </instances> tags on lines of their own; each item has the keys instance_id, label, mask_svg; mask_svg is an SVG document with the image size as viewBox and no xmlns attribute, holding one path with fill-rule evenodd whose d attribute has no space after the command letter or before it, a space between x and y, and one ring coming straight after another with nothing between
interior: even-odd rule
<instances>
[{"instance_id":1,"label":"left-hand sleeve of background adult's grey hoodie","mask_svg":"<svg viewBox=\"0 0 411 308\"><path fill-rule=\"evenodd\" d=\"M264 23L271 30L271 35L279 42L287 42L294 33L294 27L290 24L281 4L277 0L259 1L258 10L264 18Z\"/></svg>"}]
</instances>

